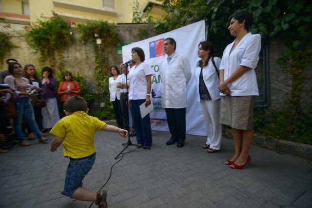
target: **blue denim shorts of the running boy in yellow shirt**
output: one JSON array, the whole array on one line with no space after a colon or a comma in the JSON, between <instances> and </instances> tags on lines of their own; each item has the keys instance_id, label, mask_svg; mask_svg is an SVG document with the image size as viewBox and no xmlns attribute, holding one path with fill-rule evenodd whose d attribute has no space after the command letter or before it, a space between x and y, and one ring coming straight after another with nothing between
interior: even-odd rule
<instances>
[{"instance_id":1,"label":"blue denim shorts of the running boy in yellow shirt","mask_svg":"<svg viewBox=\"0 0 312 208\"><path fill-rule=\"evenodd\" d=\"M75 191L82 187L82 180L91 170L96 160L96 154L90 158L80 160L70 160L64 184L64 195L71 196Z\"/></svg>"}]
</instances>

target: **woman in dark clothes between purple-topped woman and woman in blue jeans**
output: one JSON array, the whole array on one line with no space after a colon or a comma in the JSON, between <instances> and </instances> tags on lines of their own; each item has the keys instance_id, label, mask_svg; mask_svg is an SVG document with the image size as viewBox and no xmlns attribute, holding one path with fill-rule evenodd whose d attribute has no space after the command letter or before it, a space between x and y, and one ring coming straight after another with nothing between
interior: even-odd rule
<instances>
[{"instance_id":1,"label":"woman in dark clothes between purple-topped woman and woman in blue jeans","mask_svg":"<svg viewBox=\"0 0 312 208\"><path fill-rule=\"evenodd\" d=\"M34 108L35 119L38 124L39 129L42 129L42 114L41 108L45 106L45 100L42 98L41 93L43 93L42 85L37 76L37 71L34 65L26 64L24 67L24 75L29 80L31 90L36 89L34 93L31 94L31 104ZM37 87L38 86L38 87ZM28 130L28 138L34 140L35 136L31 131L31 128L28 123L26 123L26 128Z\"/></svg>"}]
</instances>

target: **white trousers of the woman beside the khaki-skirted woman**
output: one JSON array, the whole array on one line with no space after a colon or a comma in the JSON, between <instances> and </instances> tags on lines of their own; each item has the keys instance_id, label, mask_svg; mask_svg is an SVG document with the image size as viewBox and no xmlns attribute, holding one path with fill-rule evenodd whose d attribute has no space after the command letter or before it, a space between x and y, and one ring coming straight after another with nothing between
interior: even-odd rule
<instances>
[{"instance_id":1,"label":"white trousers of the woman beside the khaki-skirted woman","mask_svg":"<svg viewBox=\"0 0 312 208\"><path fill-rule=\"evenodd\" d=\"M222 138L222 124L220 118L220 99L216 101L200 100L206 122L207 142L210 148L220 150Z\"/></svg>"}]
</instances>

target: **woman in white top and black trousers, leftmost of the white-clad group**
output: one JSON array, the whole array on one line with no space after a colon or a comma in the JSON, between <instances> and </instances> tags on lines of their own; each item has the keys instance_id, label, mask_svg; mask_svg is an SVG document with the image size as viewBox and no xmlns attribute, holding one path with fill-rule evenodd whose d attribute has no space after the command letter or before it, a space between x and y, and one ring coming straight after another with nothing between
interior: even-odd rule
<instances>
[{"instance_id":1,"label":"woman in white top and black trousers, leftmost of the white-clad group","mask_svg":"<svg viewBox=\"0 0 312 208\"><path fill-rule=\"evenodd\" d=\"M122 113L120 106L120 90L117 88L117 77L120 76L120 72L117 67L111 67L111 77L108 79L108 89L110 93L110 101L114 107L115 118L119 128L122 128Z\"/></svg>"}]
</instances>

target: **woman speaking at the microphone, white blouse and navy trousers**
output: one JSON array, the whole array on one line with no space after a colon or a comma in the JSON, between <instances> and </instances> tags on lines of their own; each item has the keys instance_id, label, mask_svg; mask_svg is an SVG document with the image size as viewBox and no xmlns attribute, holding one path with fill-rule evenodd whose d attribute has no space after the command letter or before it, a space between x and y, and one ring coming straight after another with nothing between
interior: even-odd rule
<instances>
[{"instance_id":1,"label":"woman speaking at the microphone, white blouse and navy trousers","mask_svg":"<svg viewBox=\"0 0 312 208\"><path fill-rule=\"evenodd\" d=\"M133 120L137 133L137 148L150 149L152 145L152 129L150 115L141 117L140 105L151 104L152 67L144 63L145 54L141 48L132 49L132 60L136 65L130 69L129 105L132 107Z\"/></svg>"}]
</instances>

